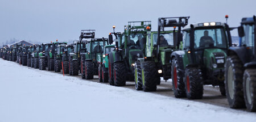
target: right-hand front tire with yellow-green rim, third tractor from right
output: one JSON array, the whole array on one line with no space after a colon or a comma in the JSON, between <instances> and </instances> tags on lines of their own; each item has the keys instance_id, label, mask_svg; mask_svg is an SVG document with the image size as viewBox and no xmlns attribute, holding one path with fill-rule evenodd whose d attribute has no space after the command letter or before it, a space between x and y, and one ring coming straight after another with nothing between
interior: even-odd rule
<instances>
[{"instance_id":1,"label":"right-hand front tire with yellow-green rim, third tractor from right","mask_svg":"<svg viewBox=\"0 0 256 122\"><path fill-rule=\"evenodd\" d=\"M159 80L158 71L154 61L141 62L142 90L156 91L156 85Z\"/></svg>"}]
</instances>

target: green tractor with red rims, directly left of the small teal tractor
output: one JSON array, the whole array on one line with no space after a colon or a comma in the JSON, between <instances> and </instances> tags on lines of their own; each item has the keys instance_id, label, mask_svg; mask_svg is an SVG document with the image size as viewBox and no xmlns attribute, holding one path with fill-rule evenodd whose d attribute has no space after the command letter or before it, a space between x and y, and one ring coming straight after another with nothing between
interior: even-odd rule
<instances>
[{"instance_id":1,"label":"green tractor with red rims, directly left of the small teal tractor","mask_svg":"<svg viewBox=\"0 0 256 122\"><path fill-rule=\"evenodd\" d=\"M103 60L102 54L105 45L109 45L109 43L108 39L104 37L87 41L86 53L81 53L82 78L93 79L93 75L98 74L101 79L101 70L98 69Z\"/></svg>"}]
</instances>

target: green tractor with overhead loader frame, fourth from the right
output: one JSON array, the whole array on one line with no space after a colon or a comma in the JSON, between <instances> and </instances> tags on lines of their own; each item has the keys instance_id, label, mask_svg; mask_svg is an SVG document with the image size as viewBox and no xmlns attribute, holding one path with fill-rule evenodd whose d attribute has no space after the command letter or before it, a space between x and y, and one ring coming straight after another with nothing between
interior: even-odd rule
<instances>
[{"instance_id":1,"label":"green tractor with overhead loader frame, fourth from the right","mask_svg":"<svg viewBox=\"0 0 256 122\"><path fill-rule=\"evenodd\" d=\"M108 56L110 85L125 86L126 80L134 81L134 62L144 57L146 35L150 30L151 21L128 22L125 31L118 35L115 49ZM111 34L109 41L113 41Z\"/></svg>"}]
</instances>

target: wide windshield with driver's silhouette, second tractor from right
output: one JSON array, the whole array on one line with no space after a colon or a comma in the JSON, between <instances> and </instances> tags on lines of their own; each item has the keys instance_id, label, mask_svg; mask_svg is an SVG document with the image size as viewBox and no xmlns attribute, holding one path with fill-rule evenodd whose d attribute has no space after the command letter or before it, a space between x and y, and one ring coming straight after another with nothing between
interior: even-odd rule
<instances>
[{"instance_id":1,"label":"wide windshield with driver's silhouette, second tractor from right","mask_svg":"<svg viewBox=\"0 0 256 122\"><path fill-rule=\"evenodd\" d=\"M228 48L223 28L195 30L195 49L198 48Z\"/></svg>"}]
</instances>

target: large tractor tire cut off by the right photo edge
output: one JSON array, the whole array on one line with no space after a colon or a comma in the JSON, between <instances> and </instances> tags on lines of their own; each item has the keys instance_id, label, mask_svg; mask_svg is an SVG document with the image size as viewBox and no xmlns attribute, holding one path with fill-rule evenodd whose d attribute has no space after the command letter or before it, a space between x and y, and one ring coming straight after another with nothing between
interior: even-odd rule
<instances>
[{"instance_id":1,"label":"large tractor tire cut off by the right photo edge","mask_svg":"<svg viewBox=\"0 0 256 122\"><path fill-rule=\"evenodd\" d=\"M256 69L246 69L243 73L243 98L247 111L256 111Z\"/></svg>"}]
</instances>

